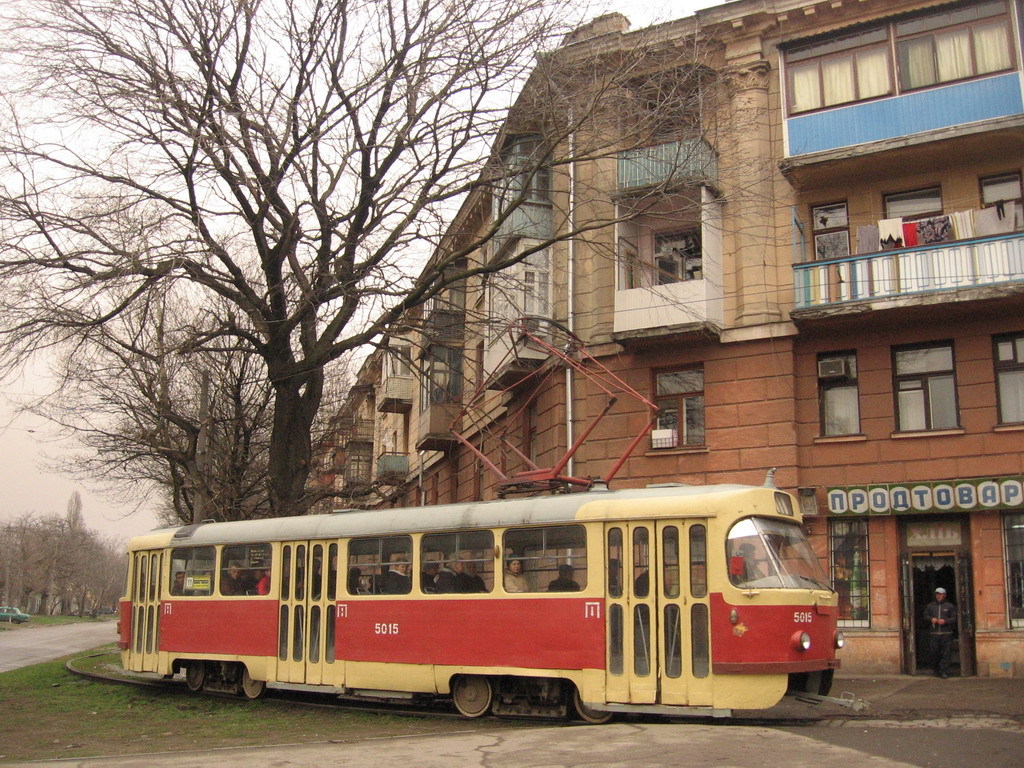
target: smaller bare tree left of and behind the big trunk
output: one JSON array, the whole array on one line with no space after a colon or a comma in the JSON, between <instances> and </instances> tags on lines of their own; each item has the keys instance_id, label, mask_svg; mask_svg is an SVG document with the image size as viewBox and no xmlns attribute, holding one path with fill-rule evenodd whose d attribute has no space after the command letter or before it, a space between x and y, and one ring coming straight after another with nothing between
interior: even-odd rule
<instances>
[{"instance_id":1,"label":"smaller bare tree left of and behind the big trunk","mask_svg":"<svg viewBox=\"0 0 1024 768\"><path fill-rule=\"evenodd\" d=\"M82 451L54 469L100 479L122 502L158 489L165 522L269 514L264 482L271 389L262 360L244 349L190 350L216 302L197 311L153 291L54 365L57 396L32 410L63 427ZM203 399L205 398L205 400Z\"/></svg>"}]
</instances>

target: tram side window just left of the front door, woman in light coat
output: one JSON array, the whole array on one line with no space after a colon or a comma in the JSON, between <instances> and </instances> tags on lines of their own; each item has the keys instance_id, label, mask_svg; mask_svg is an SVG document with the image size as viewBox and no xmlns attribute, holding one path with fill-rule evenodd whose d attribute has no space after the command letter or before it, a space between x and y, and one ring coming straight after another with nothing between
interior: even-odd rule
<instances>
[{"instance_id":1,"label":"tram side window just left of the front door, woman in light coat","mask_svg":"<svg viewBox=\"0 0 1024 768\"><path fill-rule=\"evenodd\" d=\"M583 525L505 531L506 592L579 592L586 587L587 529Z\"/></svg>"}]
</instances>

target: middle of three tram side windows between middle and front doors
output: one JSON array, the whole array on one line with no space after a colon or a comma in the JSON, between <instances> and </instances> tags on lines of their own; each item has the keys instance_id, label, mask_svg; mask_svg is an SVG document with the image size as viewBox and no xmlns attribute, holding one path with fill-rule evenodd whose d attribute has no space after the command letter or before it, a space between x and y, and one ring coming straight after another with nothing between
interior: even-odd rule
<instances>
[{"instance_id":1,"label":"middle of three tram side windows between middle and front doors","mask_svg":"<svg viewBox=\"0 0 1024 768\"><path fill-rule=\"evenodd\" d=\"M429 534L420 542L420 559L424 592L490 592L495 588L495 536L489 530Z\"/></svg>"}]
</instances>

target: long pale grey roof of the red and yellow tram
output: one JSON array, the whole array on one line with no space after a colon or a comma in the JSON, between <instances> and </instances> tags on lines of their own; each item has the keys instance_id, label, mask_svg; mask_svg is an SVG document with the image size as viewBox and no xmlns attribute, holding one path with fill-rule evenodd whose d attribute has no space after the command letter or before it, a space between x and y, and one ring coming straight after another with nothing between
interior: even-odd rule
<instances>
[{"instance_id":1,"label":"long pale grey roof of the red and yellow tram","mask_svg":"<svg viewBox=\"0 0 1024 768\"><path fill-rule=\"evenodd\" d=\"M630 501L645 503L642 516L707 516L716 514L722 508L725 497L745 495L752 490L775 492L777 488L740 484L665 484L622 490L590 490L557 496L463 502L432 507L339 510L327 515L211 522L163 528L139 539L145 539L146 543L153 542L154 538L165 537L171 539L174 544L182 545L225 544L579 522L629 517L631 515L621 505ZM772 499L771 496L766 499L765 509L750 508L750 511L774 512ZM680 502L691 504L681 510Z\"/></svg>"}]
</instances>

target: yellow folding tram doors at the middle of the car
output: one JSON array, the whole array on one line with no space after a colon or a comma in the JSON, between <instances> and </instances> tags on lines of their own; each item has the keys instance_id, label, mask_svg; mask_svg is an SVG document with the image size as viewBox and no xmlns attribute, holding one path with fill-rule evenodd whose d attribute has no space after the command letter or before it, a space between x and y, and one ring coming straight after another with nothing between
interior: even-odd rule
<instances>
[{"instance_id":1,"label":"yellow folding tram doors at the middle of the car","mask_svg":"<svg viewBox=\"0 0 1024 768\"><path fill-rule=\"evenodd\" d=\"M337 542L288 542L281 548L278 679L330 682L334 663Z\"/></svg>"}]
</instances>

